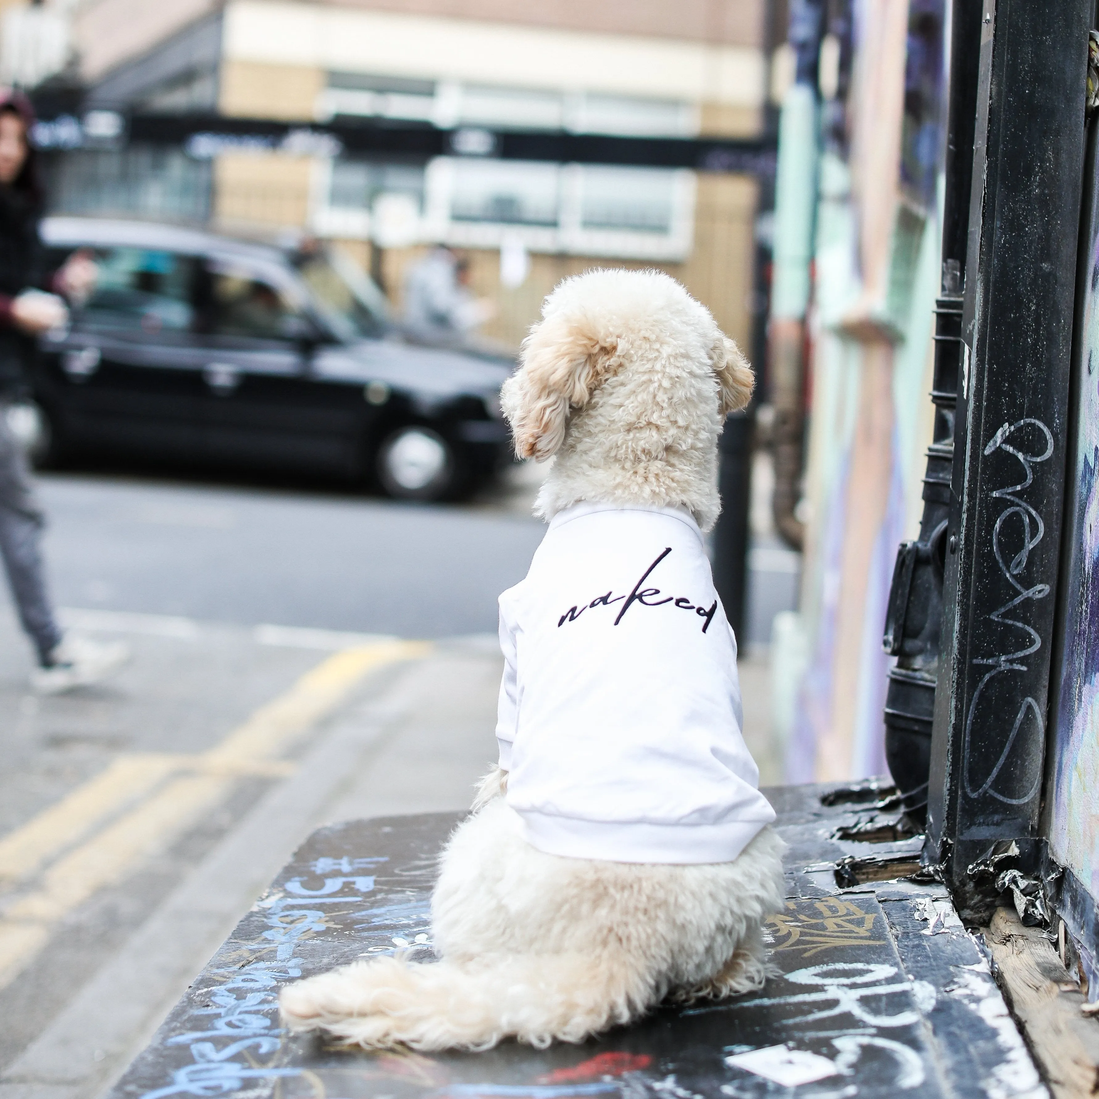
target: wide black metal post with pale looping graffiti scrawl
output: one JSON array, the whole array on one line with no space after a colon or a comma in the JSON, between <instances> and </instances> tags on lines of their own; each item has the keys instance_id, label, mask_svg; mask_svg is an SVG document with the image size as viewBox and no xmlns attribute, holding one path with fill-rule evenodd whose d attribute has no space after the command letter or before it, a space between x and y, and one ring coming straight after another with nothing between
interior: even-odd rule
<instances>
[{"instance_id":1,"label":"wide black metal post with pale looping graffiti scrawl","mask_svg":"<svg viewBox=\"0 0 1099 1099\"><path fill-rule=\"evenodd\" d=\"M1037 828L1094 5L981 12L929 787L929 857L974 915L988 898L968 867Z\"/></svg>"}]
</instances>

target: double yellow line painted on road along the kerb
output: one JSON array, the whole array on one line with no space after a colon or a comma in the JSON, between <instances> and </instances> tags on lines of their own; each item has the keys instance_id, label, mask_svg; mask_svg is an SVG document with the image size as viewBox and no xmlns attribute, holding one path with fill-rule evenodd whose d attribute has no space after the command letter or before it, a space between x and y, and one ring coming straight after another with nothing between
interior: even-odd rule
<instances>
[{"instance_id":1,"label":"double yellow line painted on road along the kerb","mask_svg":"<svg viewBox=\"0 0 1099 1099\"><path fill-rule=\"evenodd\" d=\"M422 656L430 647L387 641L336 653L210 751L120 756L0 840L0 884L25 880L45 867L34 887L0 915L0 988L34 959L63 917L184 835L226 799L241 776L292 771L279 757L368 671Z\"/></svg>"}]
</instances>

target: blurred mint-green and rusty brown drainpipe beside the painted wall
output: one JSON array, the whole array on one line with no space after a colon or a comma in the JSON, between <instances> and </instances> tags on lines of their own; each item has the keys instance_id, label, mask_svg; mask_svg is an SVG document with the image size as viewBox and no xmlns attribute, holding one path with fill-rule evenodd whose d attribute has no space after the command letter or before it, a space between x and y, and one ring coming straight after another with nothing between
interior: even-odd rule
<instances>
[{"instance_id":1,"label":"blurred mint-green and rusty brown drainpipe beside the painted wall","mask_svg":"<svg viewBox=\"0 0 1099 1099\"><path fill-rule=\"evenodd\" d=\"M775 180L775 258L768 334L770 399L775 409L773 511L779 534L802 547L804 525L795 513L804 460L804 343L817 213L820 143L818 62L824 25L822 0L790 8L789 42L797 52L795 82L782 99Z\"/></svg>"}]
</instances>

